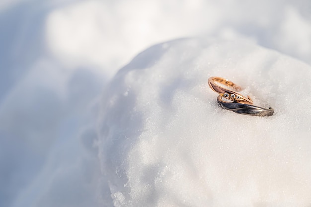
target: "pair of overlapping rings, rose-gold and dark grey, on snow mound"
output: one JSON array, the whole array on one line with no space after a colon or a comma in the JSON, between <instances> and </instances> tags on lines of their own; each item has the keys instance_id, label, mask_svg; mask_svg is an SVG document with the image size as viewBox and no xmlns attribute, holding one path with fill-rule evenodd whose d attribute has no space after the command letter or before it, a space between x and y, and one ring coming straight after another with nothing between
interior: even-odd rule
<instances>
[{"instance_id":1,"label":"pair of overlapping rings, rose-gold and dark grey, on snow mound","mask_svg":"<svg viewBox=\"0 0 311 207\"><path fill-rule=\"evenodd\" d=\"M233 89L234 91L221 87L215 84L215 82L225 85L228 88ZM238 114L246 114L252 116L273 115L274 109L272 109L271 107L266 109L263 107L254 106L253 101L249 96L246 97L241 95L240 93L237 93L241 91L242 88L229 80L221 77L210 77L208 79L208 83L210 88L219 94L219 96L217 97L217 102L224 109L231 110ZM224 101L223 98L230 100L230 102Z\"/></svg>"}]
</instances>

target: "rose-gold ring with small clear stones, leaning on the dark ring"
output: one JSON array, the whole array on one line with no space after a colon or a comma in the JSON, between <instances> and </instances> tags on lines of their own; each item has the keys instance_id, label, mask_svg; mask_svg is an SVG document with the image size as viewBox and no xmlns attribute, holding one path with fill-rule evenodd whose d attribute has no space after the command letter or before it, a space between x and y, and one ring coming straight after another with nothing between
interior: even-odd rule
<instances>
[{"instance_id":1,"label":"rose-gold ring with small clear stones, leaning on the dark ring","mask_svg":"<svg viewBox=\"0 0 311 207\"><path fill-rule=\"evenodd\" d=\"M232 90L228 90L226 88L223 88L219 85L216 85L214 82L218 82L221 83L223 85L226 85L227 87L232 88L235 91L241 91L242 88L236 84L234 84L233 82L226 80L224 78L221 77L210 77L208 79L208 83L210 88L215 91L216 93L218 93L220 96L234 101L234 102L238 102L238 103L246 103L246 104L253 104L253 101L250 99L249 96L245 97L239 93L236 93Z\"/></svg>"}]
</instances>

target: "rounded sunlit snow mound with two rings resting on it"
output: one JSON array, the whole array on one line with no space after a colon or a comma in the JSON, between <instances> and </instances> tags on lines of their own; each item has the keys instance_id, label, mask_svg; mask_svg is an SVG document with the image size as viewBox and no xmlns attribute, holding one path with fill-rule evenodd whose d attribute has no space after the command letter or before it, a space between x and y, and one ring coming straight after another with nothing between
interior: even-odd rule
<instances>
[{"instance_id":1,"label":"rounded sunlit snow mound with two rings resting on it","mask_svg":"<svg viewBox=\"0 0 311 207\"><path fill-rule=\"evenodd\" d=\"M210 76L244 86L274 115L218 107ZM102 107L99 156L114 206L310 206L310 79L310 66L242 40L142 52Z\"/></svg>"}]
</instances>

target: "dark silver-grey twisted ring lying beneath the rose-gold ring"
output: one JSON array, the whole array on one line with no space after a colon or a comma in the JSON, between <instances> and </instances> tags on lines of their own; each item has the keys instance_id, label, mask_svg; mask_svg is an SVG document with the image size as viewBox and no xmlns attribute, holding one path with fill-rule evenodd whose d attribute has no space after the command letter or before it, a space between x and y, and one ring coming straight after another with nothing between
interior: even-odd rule
<instances>
[{"instance_id":1,"label":"dark silver-grey twisted ring lying beneath the rose-gold ring","mask_svg":"<svg viewBox=\"0 0 311 207\"><path fill-rule=\"evenodd\" d=\"M250 104L226 102L223 101L222 96L217 97L217 102L223 108L228 109L230 111L234 111L235 113L238 114L246 114L251 116L271 116L274 113L274 109L271 107L269 107L269 109L265 109Z\"/></svg>"}]
</instances>

